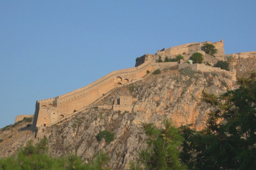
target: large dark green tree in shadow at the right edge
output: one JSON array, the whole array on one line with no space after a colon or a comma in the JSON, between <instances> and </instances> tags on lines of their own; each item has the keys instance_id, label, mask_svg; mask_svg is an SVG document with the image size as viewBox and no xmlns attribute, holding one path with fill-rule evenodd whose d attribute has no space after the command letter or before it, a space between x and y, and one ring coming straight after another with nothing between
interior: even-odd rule
<instances>
[{"instance_id":1,"label":"large dark green tree in shadow at the right edge","mask_svg":"<svg viewBox=\"0 0 256 170\"><path fill-rule=\"evenodd\" d=\"M182 126L181 158L190 169L251 170L256 167L256 73L221 96L203 92L212 112L200 132Z\"/></svg>"}]
</instances>

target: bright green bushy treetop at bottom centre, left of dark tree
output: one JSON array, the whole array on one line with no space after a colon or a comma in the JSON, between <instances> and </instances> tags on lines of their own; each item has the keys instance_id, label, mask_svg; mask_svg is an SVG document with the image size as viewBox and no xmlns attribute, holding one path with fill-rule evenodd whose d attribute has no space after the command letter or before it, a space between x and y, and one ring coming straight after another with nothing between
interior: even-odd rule
<instances>
[{"instance_id":1,"label":"bright green bushy treetop at bottom centre, left of dark tree","mask_svg":"<svg viewBox=\"0 0 256 170\"><path fill-rule=\"evenodd\" d=\"M179 160L180 144L182 136L168 120L164 122L163 129L158 129L152 123L143 124L148 136L147 149L139 153L137 166L131 165L133 170L184 170L187 167L181 165Z\"/></svg>"}]
</instances>

